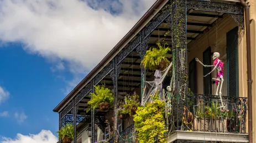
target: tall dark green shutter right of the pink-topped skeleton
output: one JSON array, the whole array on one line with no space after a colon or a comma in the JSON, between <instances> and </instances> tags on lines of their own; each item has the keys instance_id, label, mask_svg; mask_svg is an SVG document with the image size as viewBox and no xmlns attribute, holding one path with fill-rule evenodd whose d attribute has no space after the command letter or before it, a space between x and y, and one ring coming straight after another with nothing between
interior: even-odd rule
<instances>
[{"instance_id":1,"label":"tall dark green shutter right of the pink-topped skeleton","mask_svg":"<svg viewBox=\"0 0 256 143\"><path fill-rule=\"evenodd\" d=\"M227 32L227 96L238 97L238 27ZM225 76L225 75L224 75ZM224 81L225 82L225 81Z\"/></svg>"}]
</instances>

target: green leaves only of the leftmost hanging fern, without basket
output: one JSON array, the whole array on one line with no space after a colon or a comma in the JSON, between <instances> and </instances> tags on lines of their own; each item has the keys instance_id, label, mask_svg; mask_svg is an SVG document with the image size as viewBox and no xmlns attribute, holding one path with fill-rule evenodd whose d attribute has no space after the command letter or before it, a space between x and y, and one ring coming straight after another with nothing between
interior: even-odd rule
<instances>
[{"instance_id":1,"label":"green leaves only of the leftmost hanging fern, without basket","mask_svg":"<svg viewBox=\"0 0 256 143\"><path fill-rule=\"evenodd\" d=\"M74 126L71 123L66 124L59 131L57 131L57 133L59 134L60 139L63 139L66 136L67 138L74 140Z\"/></svg>"}]
</instances>

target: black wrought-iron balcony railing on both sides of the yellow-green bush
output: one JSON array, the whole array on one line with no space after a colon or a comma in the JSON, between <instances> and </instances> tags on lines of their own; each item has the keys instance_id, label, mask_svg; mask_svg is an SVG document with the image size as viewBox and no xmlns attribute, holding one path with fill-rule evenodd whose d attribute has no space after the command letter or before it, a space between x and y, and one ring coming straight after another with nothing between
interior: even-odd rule
<instances>
[{"instance_id":1,"label":"black wrought-iron balcony railing on both sides of the yellow-green bush","mask_svg":"<svg viewBox=\"0 0 256 143\"><path fill-rule=\"evenodd\" d=\"M185 98L169 99L166 108L166 129L171 135L174 131L200 131L209 133L245 134L247 98L212 95L189 95ZM223 103L223 106L222 106ZM167 117L167 118L166 118ZM167 122L168 121L168 122ZM114 140L117 141L114 141ZM157 137L156 137L157 140ZM117 133L108 142L138 142L135 125L130 125Z\"/></svg>"}]
</instances>

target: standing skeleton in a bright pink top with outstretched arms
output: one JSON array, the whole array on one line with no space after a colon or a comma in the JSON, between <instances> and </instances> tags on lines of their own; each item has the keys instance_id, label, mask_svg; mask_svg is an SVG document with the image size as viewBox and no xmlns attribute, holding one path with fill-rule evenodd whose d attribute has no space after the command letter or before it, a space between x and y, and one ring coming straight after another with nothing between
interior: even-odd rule
<instances>
[{"instance_id":1,"label":"standing skeleton in a bright pink top with outstretched arms","mask_svg":"<svg viewBox=\"0 0 256 143\"><path fill-rule=\"evenodd\" d=\"M224 70L223 64L224 63L219 58L220 58L220 53L215 52L215 53L213 53L213 56L212 56L213 65L204 65L201 61L199 61L198 58L196 58L196 61L199 62L200 64L202 64L203 67L214 67L212 69L212 71L210 73L206 74L205 76L211 74L215 69L217 69L217 77L216 78L212 78L212 79L216 81L217 90L216 90L216 94L215 95L216 96L217 95L220 96L220 99L221 99L221 107L220 108L222 108L222 107L224 107L223 106L223 102L222 102L222 97L221 97L221 94L222 94L221 93L221 89L222 89L222 84L223 84L223 81L224 81L224 79L223 79L223 70ZM203 77L205 77L205 76L203 76ZM220 87L220 92L218 94L218 89L219 89L219 86L220 86L220 81L221 81L221 87Z\"/></svg>"}]
</instances>

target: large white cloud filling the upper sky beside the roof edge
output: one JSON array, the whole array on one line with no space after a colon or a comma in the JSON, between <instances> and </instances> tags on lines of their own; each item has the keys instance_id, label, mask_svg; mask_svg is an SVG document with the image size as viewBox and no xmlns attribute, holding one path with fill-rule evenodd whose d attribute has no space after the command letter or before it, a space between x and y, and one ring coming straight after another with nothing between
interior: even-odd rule
<instances>
[{"instance_id":1,"label":"large white cloud filling the upper sky beside the roof edge","mask_svg":"<svg viewBox=\"0 0 256 143\"><path fill-rule=\"evenodd\" d=\"M106 56L155 1L2 0L0 41L22 42L29 53L67 61L72 72L84 73Z\"/></svg>"}]
</instances>

